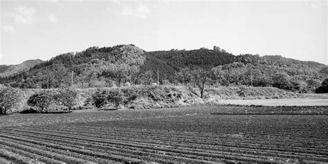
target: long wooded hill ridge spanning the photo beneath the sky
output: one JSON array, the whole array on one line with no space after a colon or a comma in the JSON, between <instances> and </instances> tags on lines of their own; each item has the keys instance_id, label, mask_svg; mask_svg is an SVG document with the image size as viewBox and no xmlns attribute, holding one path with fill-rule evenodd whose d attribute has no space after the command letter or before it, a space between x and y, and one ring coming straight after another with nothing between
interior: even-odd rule
<instances>
[{"instance_id":1,"label":"long wooded hill ridge spanning the photo beneath the sky","mask_svg":"<svg viewBox=\"0 0 328 164\"><path fill-rule=\"evenodd\" d=\"M136 52L138 53L136 54ZM117 63L117 57L124 56L125 59L120 59L120 61L133 64L135 60L133 57L136 55L142 59L138 68L132 69L134 72L138 71L136 74L131 74L131 68L129 68L130 70L124 70L127 66L131 65ZM185 68L211 70L220 65L226 65L225 68L219 68L225 72L229 72L231 69L239 69L239 72L241 72L249 70L250 67L257 67L260 70L266 70L267 73L270 70L273 73L279 70L289 76L304 74L306 75L302 76L304 80L322 80L323 77L327 76L328 69L327 65L322 63L298 61L280 56L260 57L258 54L240 54L235 56L226 52L226 50L221 50L217 46L212 50L200 48L198 50L172 49L169 51L154 52L145 52L134 45L116 45L114 47L104 48L91 47L82 52L60 54L49 61L37 62L39 63L35 66L33 65L34 67L31 69L23 67L24 70L18 71L20 72L19 74L6 74L6 77L0 78L0 83L11 83L13 86L19 88L39 88L40 85L44 88L45 79L50 79L57 81L53 82L57 83L56 85L62 85L62 81L69 79L67 74L71 71L75 72L76 81L89 83L89 86L103 85L101 83L107 83L108 79L114 81L120 79L122 82L130 81L132 83L145 83L145 81L148 81L147 83L150 83L155 82L154 76L157 69L159 70L160 81L162 83L164 79L175 83L177 74ZM1 65L0 69L10 70L3 65ZM122 74L118 74L118 71L122 69L124 70L121 72ZM107 70L107 72L103 70ZM108 70L111 72L108 72ZM116 72L116 74L113 75L113 72ZM96 82L92 82L93 79L97 79Z\"/></svg>"}]
</instances>

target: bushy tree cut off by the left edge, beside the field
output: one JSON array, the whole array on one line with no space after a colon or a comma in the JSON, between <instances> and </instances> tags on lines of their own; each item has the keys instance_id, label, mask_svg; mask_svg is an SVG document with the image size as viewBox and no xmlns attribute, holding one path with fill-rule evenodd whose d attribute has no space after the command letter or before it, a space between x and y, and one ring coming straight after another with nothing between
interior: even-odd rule
<instances>
[{"instance_id":1,"label":"bushy tree cut off by the left edge, beside the field","mask_svg":"<svg viewBox=\"0 0 328 164\"><path fill-rule=\"evenodd\" d=\"M2 114L7 114L20 99L21 94L13 88L0 88L0 109Z\"/></svg>"}]
</instances>

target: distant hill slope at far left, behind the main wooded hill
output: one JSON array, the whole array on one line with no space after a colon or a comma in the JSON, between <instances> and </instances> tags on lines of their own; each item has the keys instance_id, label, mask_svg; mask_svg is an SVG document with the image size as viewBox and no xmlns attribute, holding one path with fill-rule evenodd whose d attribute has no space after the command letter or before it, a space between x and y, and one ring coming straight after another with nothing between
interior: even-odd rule
<instances>
[{"instance_id":1,"label":"distant hill slope at far left, behind the main wooded hill","mask_svg":"<svg viewBox=\"0 0 328 164\"><path fill-rule=\"evenodd\" d=\"M35 59L35 60L24 61L23 63L17 65L10 65L8 67L7 65L1 65L0 70L3 71L0 72L0 76L11 76L14 74L19 74L21 72L26 72L30 70L30 68L33 68L35 65L42 62L44 61L40 59Z\"/></svg>"}]
</instances>

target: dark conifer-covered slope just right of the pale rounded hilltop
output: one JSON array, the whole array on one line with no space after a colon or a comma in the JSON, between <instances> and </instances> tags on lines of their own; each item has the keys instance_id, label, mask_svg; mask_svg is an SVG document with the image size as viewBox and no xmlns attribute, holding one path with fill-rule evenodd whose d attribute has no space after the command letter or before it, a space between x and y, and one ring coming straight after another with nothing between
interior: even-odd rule
<instances>
[{"instance_id":1,"label":"dark conifer-covered slope just right of the pale rounded hilltop","mask_svg":"<svg viewBox=\"0 0 328 164\"><path fill-rule=\"evenodd\" d=\"M174 78L174 73L181 68L197 66L210 69L232 63L235 59L233 54L207 49L154 51L146 52L145 56L146 60L141 66L141 72L158 69L161 76L167 79Z\"/></svg>"}]
</instances>

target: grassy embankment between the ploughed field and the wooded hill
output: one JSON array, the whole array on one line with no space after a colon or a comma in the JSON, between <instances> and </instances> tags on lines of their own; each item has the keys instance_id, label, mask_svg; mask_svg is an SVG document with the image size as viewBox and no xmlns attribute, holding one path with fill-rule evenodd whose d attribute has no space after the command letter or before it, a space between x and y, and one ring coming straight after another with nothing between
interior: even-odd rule
<instances>
[{"instance_id":1,"label":"grassy embankment between the ploughed field and the wooded hill","mask_svg":"<svg viewBox=\"0 0 328 164\"><path fill-rule=\"evenodd\" d=\"M113 88L102 88L101 90L112 90ZM78 89L78 105L77 107L93 108L90 103L92 94L97 88ZM127 101L120 105L120 108L130 109L149 109L162 107L184 107L192 105L217 105L217 104L235 104L235 105L257 105L254 102L272 102L275 105L280 101L272 99L292 99L303 98L304 95L296 94L294 92L286 92L277 88L210 88L204 99L199 97L199 92L194 88L185 86L136 86L136 87L122 87L120 88L127 97ZM48 92L56 92L51 89ZM28 110L30 107L26 104L28 97L39 90L20 90L22 97L19 104L12 112L21 112ZM240 100L254 100L257 101L240 101ZM268 99L264 101L264 99ZM318 100L318 99L317 99ZM327 100L327 99L326 99ZM321 100L320 102L323 102ZM236 103L237 102L237 103ZM246 102L243 104L243 102ZM251 102L251 103L248 103ZM262 103L263 104L263 103ZM284 104L283 104L284 105ZM328 105L327 103L318 103L316 105ZM106 106L107 108L110 105ZM105 107L105 108L106 108ZM63 107L58 105L51 105L50 110L62 110Z\"/></svg>"}]
</instances>

